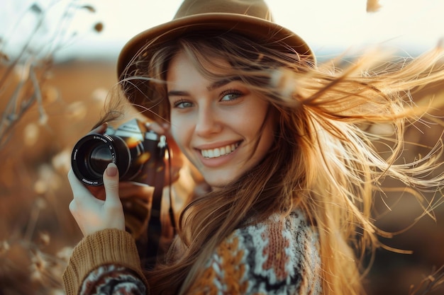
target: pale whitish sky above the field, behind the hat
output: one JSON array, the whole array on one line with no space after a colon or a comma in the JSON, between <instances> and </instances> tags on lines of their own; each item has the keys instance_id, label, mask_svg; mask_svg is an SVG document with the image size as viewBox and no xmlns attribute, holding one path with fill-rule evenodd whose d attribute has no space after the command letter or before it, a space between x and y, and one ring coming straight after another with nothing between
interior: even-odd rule
<instances>
[{"instance_id":1,"label":"pale whitish sky above the field, behind the hat","mask_svg":"<svg viewBox=\"0 0 444 295\"><path fill-rule=\"evenodd\" d=\"M182 0L0 0L0 50L14 54L28 39L58 59L116 59L133 35L170 21ZM265 0L274 21L302 37L319 57L379 45L417 55L444 38L443 0ZM69 5L75 4L78 8ZM33 6L34 5L34 6ZM94 7L91 9L84 6ZM32 9L29 7L32 6ZM26 10L28 9L28 10ZM70 11L69 22L62 18ZM44 16L42 30L33 32ZM65 19L65 23L63 20ZM100 33L92 30L103 24ZM64 28L60 33L60 28ZM57 33L58 32L58 33ZM57 35L58 34L58 35ZM60 36L64 37L60 37ZM54 36L59 36L57 42ZM51 44L50 44L51 43ZM42 50L45 49L45 50Z\"/></svg>"}]
</instances>

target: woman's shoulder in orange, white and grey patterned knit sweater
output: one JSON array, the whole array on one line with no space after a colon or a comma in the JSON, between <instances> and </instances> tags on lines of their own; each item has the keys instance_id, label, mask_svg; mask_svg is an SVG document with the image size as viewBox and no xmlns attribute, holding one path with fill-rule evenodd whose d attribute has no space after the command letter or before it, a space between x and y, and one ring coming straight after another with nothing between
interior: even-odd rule
<instances>
[{"instance_id":1,"label":"woman's shoulder in orange, white and grey patterned knit sweater","mask_svg":"<svg viewBox=\"0 0 444 295\"><path fill-rule=\"evenodd\" d=\"M321 294L318 235L301 212L235 230L207 267L207 277L241 294Z\"/></svg>"}]
</instances>

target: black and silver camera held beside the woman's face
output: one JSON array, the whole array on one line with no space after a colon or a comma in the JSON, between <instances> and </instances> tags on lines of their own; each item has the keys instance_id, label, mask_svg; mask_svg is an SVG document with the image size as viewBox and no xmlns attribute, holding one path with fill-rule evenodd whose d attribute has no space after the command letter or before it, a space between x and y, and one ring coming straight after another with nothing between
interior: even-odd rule
<instances>
[{"instance_id":1,"label":"black and silver camera held beside the woman's face","mask_svg":"<svg viewBox=\"0 0 444 295\"><path fill-rule=\"evenodd\" d=\"M72 150L71 166L85 185L103 185L103 174L109 163L118 167L120 180L155 186L156 178L165 173L165 135L148 130L133 119L118 128L108 127L104 134L82 137Z\"/></svg>"}]
</instances>

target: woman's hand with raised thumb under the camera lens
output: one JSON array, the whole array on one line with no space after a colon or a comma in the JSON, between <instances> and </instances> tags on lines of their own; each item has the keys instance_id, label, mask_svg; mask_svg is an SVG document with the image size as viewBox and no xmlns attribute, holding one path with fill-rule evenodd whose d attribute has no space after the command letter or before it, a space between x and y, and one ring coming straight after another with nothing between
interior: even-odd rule
<instances>
[{"instance_id":1,"label":"woman's hand with raised thumb under the camera lens","mask_svg":"<svg viewBox=\"0 0 444 295\"><path fill-rule=\"evenodd\" d=\"M70 211L84 236L103 229L125 230L123 207L118 196L118 169L109 163L104 172L105 199L98 199L81 183L72 170L68 173L74 199Z\"/></svg>"}]
</instances>

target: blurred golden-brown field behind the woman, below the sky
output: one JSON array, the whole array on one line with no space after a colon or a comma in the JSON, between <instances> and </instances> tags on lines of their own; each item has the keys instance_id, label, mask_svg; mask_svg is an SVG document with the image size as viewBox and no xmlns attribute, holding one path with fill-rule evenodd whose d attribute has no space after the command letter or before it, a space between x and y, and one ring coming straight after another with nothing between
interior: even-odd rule
<instances>
[{"instance_id":1,"label":"blurred golden-brown field behind the woman, below the sky","mask_svg":"<svg viewBox=\"0 0 444 295\"><path fill-rule=\"evenodd\" d=\"M100 24L94 30L100 31ZM27 57L29 62L33 53ZM61 274L81 238L68 209L72 193L66 175L72 146L99 119L116 83L114 62L73 59L52 64L45 58L35 57L35 67L30 67L0 54L0 295L63 294ZM444 85L426 88L416 98L439 91ZM36 92L40 94L33 96ZM436 99L444 97L439 94ZM24 112L15 112L20 109ZM426 134L410 128L406 140L433 146L440 129L422 128ZM411 146L405 156L425 152ZM384 202L377 199L375 212L377 225L387 231L406 229L421 214L413 197L392 194ZM412 253L378 250L366 277L369 295L409 295L411 285L422 286L416 294L444 294L443 272L435 273L444 265L443 206L435 208L435 220L425 216L403 233L382 240ZM440 288L426 290L428 284Z\"/></svg>"}]
</instances>

